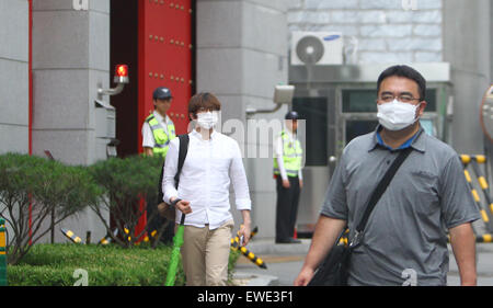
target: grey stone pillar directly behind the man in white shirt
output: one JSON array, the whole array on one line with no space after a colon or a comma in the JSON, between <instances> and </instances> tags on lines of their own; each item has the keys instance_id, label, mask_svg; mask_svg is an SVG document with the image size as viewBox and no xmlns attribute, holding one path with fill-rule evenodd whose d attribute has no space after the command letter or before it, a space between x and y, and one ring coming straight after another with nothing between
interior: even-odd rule
<instances>
[{"instance_id":1,"label":"grey stone pillar directly behind the man in white shirt","mask_svg":"<svg viewBox=\"0 0 493 308\"><path fill-rule=\"evenodd\" d=\"M252 227L259 226L259 237L274 237L275 230L272 140L250 140L250 146L266 149L270 158L248 157L245 110L274 107L274 87L287 82L286 5L284 0L197 1L197 91L217 94L222 103L222 123L238 119L244 124L244 138L238 132L231 132L231 137L244 149ZM252 119L283 118L286 111L283 107ZM233 197L231 206L236 221L241 223Z\"/></svg>"}]
</instances>

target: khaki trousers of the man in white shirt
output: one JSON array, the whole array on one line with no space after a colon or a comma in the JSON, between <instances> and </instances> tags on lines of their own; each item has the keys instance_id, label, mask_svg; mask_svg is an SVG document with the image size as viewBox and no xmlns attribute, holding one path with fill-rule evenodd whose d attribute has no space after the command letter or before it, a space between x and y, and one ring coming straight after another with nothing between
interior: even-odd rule
<instances>
[{"instance_id":1,"label":"khaki trousers of the man in white shirt","mask_svg":"<svg viewBox=\"0 0 493 308\"><path fill-rule=\"evenodd\" d=\"M225 286L233 220L215 230L185 226L181 249L187 286Z\"/></svg>"}]
</instances>

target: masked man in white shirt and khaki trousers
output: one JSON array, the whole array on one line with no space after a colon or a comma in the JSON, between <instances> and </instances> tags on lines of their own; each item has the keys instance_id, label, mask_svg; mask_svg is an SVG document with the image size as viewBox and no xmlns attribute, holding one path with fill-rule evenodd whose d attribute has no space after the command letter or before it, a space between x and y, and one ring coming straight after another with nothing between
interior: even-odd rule
<instances>
[{"instance_id":1,"label":"masked man in white shirt and khaki trousers","mask_svg":"<svg viewBox=\"0 0 493 308\"><path fill-rule=\"evenodd\" d=\"M186 159L175 189L180 139L170 144L165 166L164 202L176 207L179 224L185 217L182 261L186 284L226 285L233 218L230 213L229 186L232 183L237 209L243 225L243 244L250 240L251 199L238 142L214 129L220 103L210 93L194 95L188 104L195 129L190 133Z\"/></svg>"}]
</instances>

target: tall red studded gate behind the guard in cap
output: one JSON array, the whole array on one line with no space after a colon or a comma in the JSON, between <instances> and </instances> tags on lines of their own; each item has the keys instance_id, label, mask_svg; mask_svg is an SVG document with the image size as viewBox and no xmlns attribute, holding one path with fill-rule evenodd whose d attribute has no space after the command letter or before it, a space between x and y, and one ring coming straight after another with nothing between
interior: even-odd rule
<instances>
[{"instance_id":1,"label":"tall red studded gate behind the guard in cap","mask_svg":"<svg viewBox=\"0 0 493 308\"><path fill-rule=\"evenodd\" d=\"M171 90L173 102L168 115L176 134L185 134L187 105L193 87L193 7L192 0L139 0L138 12L138 127L153 111L152 91L157 87ZM142 152L142 136L138 137ZM142 201L141 209L145 206ZM142 217L139 233L146 225Z\"/></svg>"}]
</instances>

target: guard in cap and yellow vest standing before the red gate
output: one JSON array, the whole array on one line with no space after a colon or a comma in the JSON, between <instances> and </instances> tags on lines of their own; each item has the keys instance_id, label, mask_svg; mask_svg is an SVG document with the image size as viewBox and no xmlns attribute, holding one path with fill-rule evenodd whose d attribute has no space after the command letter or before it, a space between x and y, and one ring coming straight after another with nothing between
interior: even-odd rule
<instances>
[{"instance_id":1,"label":"guard in cap and yellow vest standing before the red gate","mask_svg":"<svg viewBox=\"0 0 493 308\"><path fill-rule=\"evenodd\" d=\"M154 111L146 117L142 125L142 147L145 155L148 156L161 156L165 159L170 141L176 137L173 121L167 115L171 107L173 96L168 88L159 87L152 93L152 101L154 104ZM147 199L147 214L148 217L154 215L157 205L161 201ZM148 232L159 230L163 224L167 224L167 219L156 215L151 221L148 221ZM161 236L161 241L170 242L173 237L174 224L168 224L164 227L164 231Z\"/></svg>"}]
</instances>

